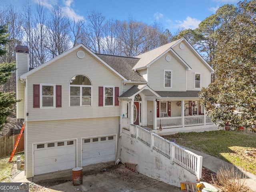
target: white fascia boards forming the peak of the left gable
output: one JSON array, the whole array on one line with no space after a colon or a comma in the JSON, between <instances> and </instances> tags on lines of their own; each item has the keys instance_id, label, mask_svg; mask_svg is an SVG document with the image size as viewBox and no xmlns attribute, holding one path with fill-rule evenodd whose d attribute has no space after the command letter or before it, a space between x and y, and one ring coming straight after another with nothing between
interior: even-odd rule
<instances>
[{"instance_id":1,"label":"white fascia boards forming the peak of the left gable","mask_svg":"<svg viewBox=\"0 0 256 192\"><path fill-rule=\"evenodd\" d=\"M49 64L51 64L51 63L55 62L56 60L58 60L58 59L60 59L60 58L62 58L62 57L64 57L64 56L66 56L66 55L69 54L70 52L73 52L74 50L76 50L76 49L78 49L78 48L80 48L80 47L84 48L90 55L92 55L93 57L96 58L96 60L98 60L98 61L100 61L102 64L104 64L107 68L109 68L114 74L116 74L117 76L119 76L122 80L127 81L126 78L124 78L121 74L119 74L116 70L114 70L110 65L108 65L106 62L104 62L101 58L99 58L96 54L94 54L94 52L92 52L91 50L89 50L89 49L88 49L86 46L84 46L84 44L82 44L82 43L79 44L79 45L77 45L77 46L74 46L73 48L71 48L70 50L64 52L63 54L60 54L60 55L56 56L55 58L49 60L48 62L46 62L46 63L44 63L44 64L42 64L42 65L40 65L40 66L38 66L38 67L36 67L36 68L34 68L34 69L32 69L32 70L30 70L29 72L26 72L25 74L22 74L22 75L20 76L20 78L21 78L21 79L26 79L27 76L29 76L30 74L33 74L34 72L40 70L41 68L44 68L44 67L48 66Z\"/></svg>"}]
</instances>

